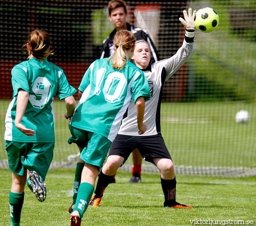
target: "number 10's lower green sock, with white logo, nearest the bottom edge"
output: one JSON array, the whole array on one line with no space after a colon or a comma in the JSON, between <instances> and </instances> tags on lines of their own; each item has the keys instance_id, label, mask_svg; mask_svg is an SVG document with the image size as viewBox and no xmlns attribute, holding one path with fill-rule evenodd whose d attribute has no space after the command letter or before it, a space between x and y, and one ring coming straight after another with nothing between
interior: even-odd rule
<instances>
[{"instance_id":1,"label":"number 10's lower green sock, with white logo, nearest the bottom edge","mask_svg":"<svg viewBox=\"0 0 256 226\"><path fill-rule=\"evenodd\" d=\"M74 211L78 210L81 218L83 217L83 214L90 203L93 192L94 192L94 187L92 184L89 184L89 183L80 184L78 195L77 195L77 202L76 202Z\"/></svg>"}]
</instances>

